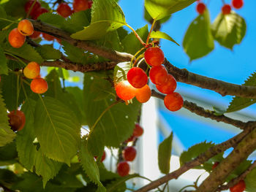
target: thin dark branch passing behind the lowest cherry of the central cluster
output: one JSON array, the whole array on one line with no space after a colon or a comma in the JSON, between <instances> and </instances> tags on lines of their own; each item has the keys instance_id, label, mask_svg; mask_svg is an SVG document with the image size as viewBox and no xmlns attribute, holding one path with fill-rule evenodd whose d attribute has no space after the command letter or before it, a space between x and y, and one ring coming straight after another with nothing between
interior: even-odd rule
<instances>
[{"instance_id":1,"label":"thin dark branch passing behind the lowest cherry of the central cluster","mask_svg":"<svg viewBox=\"0 0 256 192\"><path fill-rule=\"evenodd\" d=\"M157 97L158 99L162 99L162 100L165 99L164 94L157 93L157 91L154 91L154 90L151 91L151 96ZM184 101L183 107L185 109L189 110L190 112L194 112L195 114L200 115L204 118L210 118L212 120L217 120L217 122L227 123L227 124L236 126L241 129L248 128L248 126L250 126L250 127L256 126L255 121L248 121L248 122L244 123L241 120L234 120L232 118L228 118L225 115L214 115L214 111L205 110L205 109L203 109L203 107L198 107L197 104L189 102L189 101Z\"/></svg>"}]
</instances>

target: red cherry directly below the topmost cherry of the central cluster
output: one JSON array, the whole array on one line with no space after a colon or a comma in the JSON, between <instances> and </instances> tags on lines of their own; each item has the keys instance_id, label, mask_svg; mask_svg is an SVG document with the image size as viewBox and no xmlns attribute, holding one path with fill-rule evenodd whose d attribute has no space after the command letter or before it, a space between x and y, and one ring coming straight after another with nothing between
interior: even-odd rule
<instances>
[{"instance_id":1,"label":"red cherry directly below the topmost cherry of the central cluster","mask_svg":"<svg viewBox=\"0 0 256 192\"><path fill-rule=\"evenodd\" d=\"M164 66L153 66L149 71L151 82L162 85L167 80L167 71Z\"/></svg>"}]
</instances>

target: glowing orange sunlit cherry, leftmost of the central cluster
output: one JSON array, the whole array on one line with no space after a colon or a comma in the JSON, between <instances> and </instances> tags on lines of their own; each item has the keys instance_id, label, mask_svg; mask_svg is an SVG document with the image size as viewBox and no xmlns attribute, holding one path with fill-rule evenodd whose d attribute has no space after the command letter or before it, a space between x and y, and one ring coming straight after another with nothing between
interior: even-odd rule
<instances>
[{"instance_id":1,"label":"glowing orange sunlit cherry, leftmost of the central cluster","mask_svg":"<svg viewBox=\"0 0 256 192\"><path fill-rule=\"evenodd\" d=\"M136 88L132 87L127 80L118 82L116 85L116 95L124 101L133 99L135 97L135 93Z\"/></svg>"}]
</instances>

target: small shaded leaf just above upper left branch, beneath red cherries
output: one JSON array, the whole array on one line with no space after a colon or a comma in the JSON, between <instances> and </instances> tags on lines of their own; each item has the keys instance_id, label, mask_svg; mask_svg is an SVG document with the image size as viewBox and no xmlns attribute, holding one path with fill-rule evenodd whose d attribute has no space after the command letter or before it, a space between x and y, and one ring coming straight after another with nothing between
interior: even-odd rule
<instances>
[{"instance_id":1,"label":"small shaded leaf just above upper left branch, beneath red cherries","mask_svg":"<svg viewBox=\"0 0 256 192\"><path fill-rule=\"evenodd\" d=\"M49 23L51 26L56 26L57 28L61 28L66 21L65 18L61 17L61 15L51 12L43 13L37 18L37 20L42 20L42 22Z\"/></svg>"}]
</instances>

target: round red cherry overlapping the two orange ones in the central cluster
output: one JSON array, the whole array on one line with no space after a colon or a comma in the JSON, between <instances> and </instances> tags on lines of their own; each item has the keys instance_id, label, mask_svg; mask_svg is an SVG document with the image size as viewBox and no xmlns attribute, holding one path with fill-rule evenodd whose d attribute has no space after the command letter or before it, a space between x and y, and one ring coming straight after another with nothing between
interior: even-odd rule
<instances>
[{"instance_id":1,"label":"round red cherry overlapping the two orange ones in the central cluster","mask_svg":"<svg viewBox=\"0 0 256 192\"><path fill-rule=\"evenodd\" d=\"M143 88L148 82L148 76L140 67L132 67L127 73L127 80L133 87Z\"/></svg>"}]
</instances>

